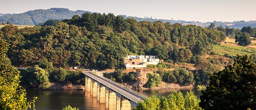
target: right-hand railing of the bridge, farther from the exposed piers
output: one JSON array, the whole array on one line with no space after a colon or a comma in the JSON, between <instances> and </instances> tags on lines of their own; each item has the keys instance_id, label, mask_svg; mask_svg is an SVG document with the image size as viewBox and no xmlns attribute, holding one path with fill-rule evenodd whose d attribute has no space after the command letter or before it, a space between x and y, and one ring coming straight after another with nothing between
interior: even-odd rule
<instances>
[{"instance_id":1,"label":"right-hand railing of the bridge, farther from the exposed piers","mask_svg":"<svg viewBox=\"0 0 256 110\"><path fill-rule=\"evenodd\" d=\"M92 73L93 73L93 72L92 72ZM97 75L97 74L95 74L95 75ZM99 75L97 75L97 76L99 76ZM146 96L146 95L144 95L144 94L142 94L142 93L140 93L140 92L138 92L138 91L136 91L136 90L134 90L134 89L131 89L131 88L129 88L128 86L122 85L121 83L115 82L115 81L113 81L113 80L111 80L111 79L108 79L108 78L106 78L106 77L104 77L104 76L100 76L100 77L102 77L102 78L104 78L105 80L107 80L107 81L113 83L113 84L116 85L116 86L125 88L125 89L129 90L130 92L132 92L132 93L134 93L134 94L136 94L136 95L138 95L138 96L140 96L140 97L143 97L143 98L144 98L143 100L145 100L146 98L149 98L148 96Z\"/></svg>"}]
</instances>

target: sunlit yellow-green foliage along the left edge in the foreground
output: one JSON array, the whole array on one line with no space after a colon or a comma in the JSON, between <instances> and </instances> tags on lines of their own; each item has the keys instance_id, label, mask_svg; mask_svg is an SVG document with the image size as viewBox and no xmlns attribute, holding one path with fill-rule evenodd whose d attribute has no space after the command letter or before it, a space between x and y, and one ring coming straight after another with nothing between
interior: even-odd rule
<instances>
[{"instance_id":1,"label":"sunlit yellow-green foliage along the left edge in the foreground","mask_svg":"<svg viewBox=\"0 0 256 110\"><path fill-rule=\"evenodd\" d=\"M0 109L34 110L37 97L27 102L26 90L19 85L20 72L7 60L8 45L0 39Z\"/></svg>"}]
</instances>

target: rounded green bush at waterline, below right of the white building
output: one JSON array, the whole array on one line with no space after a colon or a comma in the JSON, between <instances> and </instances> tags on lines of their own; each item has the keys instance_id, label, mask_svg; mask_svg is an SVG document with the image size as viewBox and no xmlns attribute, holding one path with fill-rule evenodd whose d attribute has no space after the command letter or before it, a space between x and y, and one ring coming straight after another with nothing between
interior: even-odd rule
<instances>
[{"instance_id":1,"label":"rounded green bush at waterline, below right of the white building","mask_svg":"<svg viewBox=\"0 0 256 110\"><path fill-rule=\"evenodd\" d=\"M159 76L159 74L149 73L147 77L148 77L148 82L147 82L148 87L155 87L161 84L161 77Z\"/></svg>"}]
</instances>

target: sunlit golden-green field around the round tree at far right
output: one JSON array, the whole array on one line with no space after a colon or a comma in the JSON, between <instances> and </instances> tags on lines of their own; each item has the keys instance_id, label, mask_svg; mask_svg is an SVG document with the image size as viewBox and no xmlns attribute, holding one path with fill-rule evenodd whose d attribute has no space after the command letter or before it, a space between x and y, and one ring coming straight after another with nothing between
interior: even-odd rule
<instances>
[{"instance_id":1,"label":"sunlit golden-green field around the round tree at far right","mask_svg":"<svg viewBox=\"0 0 256 110\"><path fill-rule=\"evenodd\" d=\"M236 54L251 54L256 51L256 40L252 40L251 42L251 45L240 46L235 43L234 37L227 37L225 42L221 42L221 45L214 45L212 51L219 55L227 53L230 56L235 56Z\"/></svg>"}]
</instances>

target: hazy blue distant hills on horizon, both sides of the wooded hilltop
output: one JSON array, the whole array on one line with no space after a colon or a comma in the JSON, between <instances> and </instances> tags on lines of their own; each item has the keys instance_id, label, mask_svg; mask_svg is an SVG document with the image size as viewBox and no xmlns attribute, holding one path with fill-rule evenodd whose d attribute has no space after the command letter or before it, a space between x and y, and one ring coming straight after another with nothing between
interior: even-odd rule
<instances>
[{"instance_id":1,"label":"hazy blue distant hills on horizon, both sides of the wooded hilltop","mask_svg":"<svg viewBox=\"0 0 256 110\"><path fill-rule=\"evenodd\" d=\"M58 20L64 20L64 19L70 19L73 15L80 15L83 13L92 13L90 11L83 11L83 10L76 10L71 11L67 8L50 8L50 9L37 9L32 11L27 11L20 14L2 14L0 13L0 22L7 23L7 21L12 21L14 25L37 25L39 23L45 22L48 19L58 19ZM202 27L208 27L211 23L214 23L217 26L222 25L223 27L230 27L230 28L239 28L241 29L243 26L251 26L252 28L256 28L256 21L234 21L234 22L207 22L207 23L201 23L201 22L195 22L195 21L185 21L185 20L164 20L164 19L152 19L148 17L135 17L135 16L126 16L121 15L125 19L126 18L134 18L138 22L140 21L162 21L163 23L170 22L171 24L174 23L180 23L182 25L189 25L193 24L196 26L202 26Z\"/></svg>"}]
</instances>

